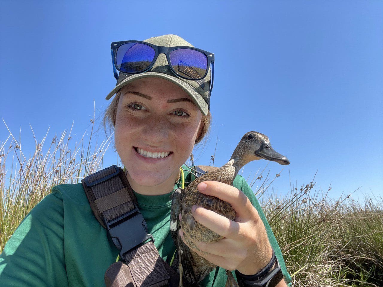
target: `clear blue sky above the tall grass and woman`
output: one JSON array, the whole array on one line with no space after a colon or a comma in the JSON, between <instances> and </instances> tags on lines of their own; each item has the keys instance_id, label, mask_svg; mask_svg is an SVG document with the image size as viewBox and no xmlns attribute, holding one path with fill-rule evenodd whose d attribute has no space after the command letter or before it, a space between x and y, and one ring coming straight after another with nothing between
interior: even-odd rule
<instances>
[{"instance_id":1,"label":"clear blue sky above the tall grass and woman","mask_svg":"<svg viewBox=\"0 0 383 287\"><path fill-rule=\"evenodd\" d=\"M97 118L116 84L111 42L177 34L215 54L213 125L198 164L209 165L217 137L221 166L256 130L291 164L254 161L245 178L268 164L264 176L283 169L270 186L280 194L315 173L316 187L331 184L334 197L383 194L383 2L159 3L0 3L0 116L15 135L21 128L26 154L29 124L37 140L73 121L73 137L90 131L93 101ZM7 137L0 122L0 142ZM100 132L94 143L104 139ZM106 155L104 167L116 163Z\"/></svg>"}]
</instances>

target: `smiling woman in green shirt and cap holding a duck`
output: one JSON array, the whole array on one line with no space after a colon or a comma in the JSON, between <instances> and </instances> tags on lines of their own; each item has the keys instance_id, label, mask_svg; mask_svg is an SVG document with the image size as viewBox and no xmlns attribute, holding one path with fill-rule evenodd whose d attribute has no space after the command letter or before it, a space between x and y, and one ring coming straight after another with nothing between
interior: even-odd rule
<instances>
[{"instance_id":1,"label":"smiling woman in green shirt and cap holding a duck","mask_svg":"<svg viewBox=\"0 0 383 287\"><path fill-rule=\"evenodd\" d=\"M169 230L169 195L179 187L180 166L188 169L183 163L209 128L214 71L213 54L166 48L174 46L193 47L175 35L112 43L118 82L106 99L117 95L104 118L115 127L115 147L126 178L148 232L155 238L155 247L167 263L175 251ZM275 237L242 176L234 180L234 187L205 183L199 186L201 192L213 191L247 218L241 219L241 234L223 241L224 245L196 243L201 250L209 250L204 257L251 280L251 275L270 262L272 246L285 280L290 282ZM246 200L238 203L235 197L243 194L249 199L244 197ZM201 207L193 215L202 224L226 232L225 239L231 238L222 218ZM62 184L31 210L5 245L0 256L0 282L2 286L105 286L104 273L118 253L95 219L82 185ZM224 270L217 268L201 286L223 286L225 282ZM282 280L277 286L286 283Z\"/></svg>"}]
</instances>

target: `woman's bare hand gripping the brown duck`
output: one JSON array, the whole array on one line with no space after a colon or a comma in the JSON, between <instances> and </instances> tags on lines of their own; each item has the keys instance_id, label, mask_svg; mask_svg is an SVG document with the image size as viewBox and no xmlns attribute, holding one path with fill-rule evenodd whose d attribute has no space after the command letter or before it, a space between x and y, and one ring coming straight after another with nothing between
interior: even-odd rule
<instances>
[{"instance_id":1,"label":"woman's bare hand gripping the brown duck","mask_svg":"<svg viewBox=\"0 0 383 287\"><path fill-rule=\"evenodd\" d=\"M194 219L224 238L214 243L194 241L191 238L200 250L208 254L195 249L193 251L219 267L237 269L246 275L256 274L264 268L271 260L272 249L265 226L247 196L241 190L219 181L204 181L197 188L203 194L230 203L237 215L235 221L232 221L194 205L191 209ZM182 229L179 234L183 239Z\"/></svg>"}]
</instances>

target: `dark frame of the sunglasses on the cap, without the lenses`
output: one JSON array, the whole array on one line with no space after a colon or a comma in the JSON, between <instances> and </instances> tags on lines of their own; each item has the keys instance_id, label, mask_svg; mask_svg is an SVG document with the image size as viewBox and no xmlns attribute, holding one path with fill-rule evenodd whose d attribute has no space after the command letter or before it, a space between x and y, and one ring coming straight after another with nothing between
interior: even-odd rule
<instances>
[{"instance_id":1,"label":"dark frame of the sunglasses on the cap, without the lenses","mask_svg":"<svg viewBox=\"0 0 383 287\"><path fill-rule=\"evenodd\" d=\"M149 65L149 67L147 67L145 70L141 71L141 72L136 72L136 73L126 73L124 71L121 71L118 66L117 66L117 50L118 48L123 45L123 44L126 44L126 43L140 43L140 44L145 44L147 46L150 46L154 49L155 51L155 55L154 55L154 58L151 62L151 64ZM202 78L199 78L199 79L191 79L191 78L187 78L187 77L184 77L182 75L180 75L180 73L178 73L177 71L174 70L173 66L170 64L170 53L174 50L177 50L177 49L190 49L190 50L195 50L195 51L198 51L198 52L201 52L202 54L204 54L206 56L206 59L208 60L208 64L207 64L207 68L206 68L206 72L205 72L205 75L203 75ZM134 41L134 40L130 40L130 41L119 41L119 42L112 42L110 44L110 50L111 50L111 54L112 54L112 64L113 64L113 74L116 78L116 80L118 80L118 73L117 73L117 70L121 73L124 73L124 74L140 74L140 73L145 73L147 71L149 71L155 61L157 60L157 57L159 56L159 54L165 54L166 55L166 59L169 63L169 67L170 67L170 70L172 70L172 72L174 73L175 76L177 77L180 77L180 78L183 78L185 80L191 80L191 81L199 81L203 78L206 77L206 75L208 74L208 70L210 68L210 64L211 64L211 85L210 85L210 93L209 93L209 96L211 94L211 90L213 90L213 79L214 79L214 54L213 53L210 53L208 51L204 51L204 50L201 50L201 49L198 49L198 48L195 48L195 47L189 47L189 46L176 46L176 47L164 47L164 46L156 46L154 44L151 44L151 43L147 43L147 42L143 42L143 41Z\"/></svg>"}]
</instances>

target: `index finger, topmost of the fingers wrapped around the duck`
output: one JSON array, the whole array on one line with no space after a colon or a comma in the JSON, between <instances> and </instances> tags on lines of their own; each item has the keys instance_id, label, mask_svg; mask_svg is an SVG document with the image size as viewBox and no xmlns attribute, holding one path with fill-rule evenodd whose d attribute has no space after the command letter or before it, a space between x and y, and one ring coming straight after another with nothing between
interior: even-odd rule
<instances>
[{"instance_id":1,"label":"index finger, topmost of the fingers wrapped around the duck","mask_svg":"<svg viewBox=\"0 0 383 287\"><path fill-rule=\"evenodd\" d=\"M219 181L203 181L197 186L203 194L218 197L231 204L237 213L237 218L246 221L250 218L258 218L258 212L251 204L247 196L239 189Z\"/></svg>"}]
</instances>

